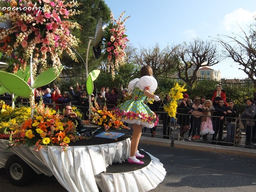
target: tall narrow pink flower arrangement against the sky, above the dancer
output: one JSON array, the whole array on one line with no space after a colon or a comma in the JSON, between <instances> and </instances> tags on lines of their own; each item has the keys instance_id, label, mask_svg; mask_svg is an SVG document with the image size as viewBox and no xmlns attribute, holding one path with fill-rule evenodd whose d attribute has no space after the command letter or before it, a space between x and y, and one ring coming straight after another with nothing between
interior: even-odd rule
<instances>
[{"instance_id":1,"label":"tall narrow pink flower arrangement against the sky, above the dancer","mask_svg":"<svg viewBox=\"0 0 256 192\"><path fill-rule=\"evenodd\" d=\"M121 20L123 16L124 12L116 20L113 14L110 14L110 21L104 30L104 39L102 40L104 49L102 60L107 63L108 69L111 71L113 77L115 68L118 70L119 64L124 62L126 56L124 48L129 41L127 35L124 34L126 32L124 23L130 16Z\"/></svg>"}]
</instances>

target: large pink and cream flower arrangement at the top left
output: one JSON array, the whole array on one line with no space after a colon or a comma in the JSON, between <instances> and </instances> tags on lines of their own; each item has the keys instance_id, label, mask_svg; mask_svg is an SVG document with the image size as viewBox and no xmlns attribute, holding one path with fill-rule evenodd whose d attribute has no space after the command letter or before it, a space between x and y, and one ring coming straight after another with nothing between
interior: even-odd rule
<instances>
[{"instance_id":1,"label":"large pink and cream flower arrangement at the top left","mask_svg":"<svg viewBox=\"0 0 256 192\"><path fill-rule=\"evenodd\" d=\"M0 10L0 22L10 24L5 29L0 28L0 51L23 60L21 68L26 67L32 55L35 64L48 68L47 58L50 58L57 73L62 65L63 50L77 61L70 47L78 47L80 41L70 34L70 29L80 28L80 25L70 16L80 13L73 10L78 5L74 0L20 0L18 4L8 0Z\"/></svg>"}]
</instances>

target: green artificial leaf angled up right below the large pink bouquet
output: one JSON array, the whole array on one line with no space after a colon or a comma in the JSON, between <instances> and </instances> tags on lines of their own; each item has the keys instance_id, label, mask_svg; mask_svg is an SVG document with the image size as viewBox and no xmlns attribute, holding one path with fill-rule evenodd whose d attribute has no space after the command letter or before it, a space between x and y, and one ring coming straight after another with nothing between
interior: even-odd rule
<instances>
[{"instance_id":1,"label":"green artificial leaf angled up right below the large pink bouquet","mask_svg":"<svg viewBox=\"0 0 256 192\"><path fill-rule=\"evenodd\" d=\"M64 68L64 66L62 66L61 70L59 71L59 73L57 75L55 75L55 70L53 67L42 72L34 80L34 84L32 85L32 88L38 88L38 87L42 87L44 85L49 84L50 82L52 82L54 79L56 79L59 76L59 74L63 68Z\"/></svg>"}]
</instances>

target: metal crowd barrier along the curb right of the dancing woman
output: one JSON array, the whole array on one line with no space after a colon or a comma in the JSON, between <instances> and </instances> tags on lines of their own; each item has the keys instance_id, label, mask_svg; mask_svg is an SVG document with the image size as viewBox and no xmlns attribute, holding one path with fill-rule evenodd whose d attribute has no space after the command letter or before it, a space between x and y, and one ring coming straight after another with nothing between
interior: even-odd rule
<instances>
[{"instance_id":1,"label":"metal crowd barrier along the curb right of the dancing woman","mask_svg":"<svg viewBox=\"0 0 256 192\"><path fill-rule=\"evenodd\" d=\"M215 111L210 111L210 112L215 112ZM151 137L171 139L172 144L174 144L175 140L183 140L184 142L194 141L194 142L207 142L210 144L220 144L220 145L226 145L226 146L238 146L238 147L246 146L248 148L256 147L256 120L249 120L254 122L255 124L254 126L248 126L247 124L244 126L244 124L242 124L242 121L248 122L248 119L243 119L240 116L237 118L226 117L224 118L223 121L220 121L220 116L205 116L205 115L177 113L176 119L174 119L169 117L166 112L156 111L155 113L158 114L158 118L159 118L159 123L156 127L155 134L152 134L152 131L146 127L142 128L142 134L148 135ZM214 134L214 137L212 134L208 134L207 140L204 140L202 136L200 136L199 139L192 139L192 129L193 129L192 124L193 124L194 116L200 116L201 118L210 117L211 120L214 119L215 121L214 122L212 121L213 130L215 132L218 130L218 133ZM181 119L178 120L178 118L181 118ZM180 127L180 124L178 124L178 122L182 122L184 120L183 118L189 118L189 130L187 130L184 136L181 137L181 127ZM232 126L234 126L234 130L232 132L233 142L226 140L226 136L228 134L227 125L228 125L228 121L230 120L234 120L234 122L232 123ZM196 134L198 134L197 130L196 130ZM246 138L248 142L246 142Z\"/></svg>"}]
</instances>

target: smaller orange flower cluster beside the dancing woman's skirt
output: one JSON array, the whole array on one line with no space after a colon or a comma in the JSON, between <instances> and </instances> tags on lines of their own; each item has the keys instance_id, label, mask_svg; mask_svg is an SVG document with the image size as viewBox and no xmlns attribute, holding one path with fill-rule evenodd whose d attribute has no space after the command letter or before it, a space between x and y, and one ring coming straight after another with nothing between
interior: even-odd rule
<instances>
[{"instance_id":1,"label":"smaller orange flower cluster beside the dancing woman's skirt","mask_svg":"<svg viewBox=\"0 0 256 192\"><path fill-rule=\"evenodd\" d=\"M116 114L113 110L108 111L107 107L104 106L100 109L97 102L95 102L95 107L92 106L91 122L93 124L104 127L105 130L113 129L129 129L125 126L123 122L116 118Z\"/></svg>"}]
</instances>

